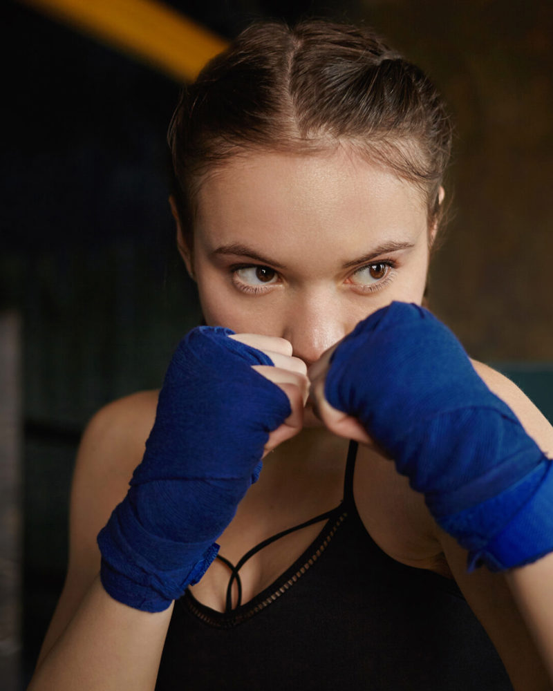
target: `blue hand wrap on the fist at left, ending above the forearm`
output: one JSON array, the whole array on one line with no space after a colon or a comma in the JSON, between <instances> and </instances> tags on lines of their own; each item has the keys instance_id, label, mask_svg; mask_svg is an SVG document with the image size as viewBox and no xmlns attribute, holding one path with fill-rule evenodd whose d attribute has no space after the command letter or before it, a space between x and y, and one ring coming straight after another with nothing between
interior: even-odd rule
<instances>
[{"instance_id":1,"label":"blue hand wrap on the fist at left, ending above the forearm","mask_svg":"<svg viewBox=\"0 0 553 691\"><path fill-rule=\"evenodd\" d=\"M201 326L178 345L142 463L98 535L104 589L136 609L167 609L200 580L270 432L291 413L285 393L252 369L272 361L232 333Z\"/></svg>"}]
</instances>

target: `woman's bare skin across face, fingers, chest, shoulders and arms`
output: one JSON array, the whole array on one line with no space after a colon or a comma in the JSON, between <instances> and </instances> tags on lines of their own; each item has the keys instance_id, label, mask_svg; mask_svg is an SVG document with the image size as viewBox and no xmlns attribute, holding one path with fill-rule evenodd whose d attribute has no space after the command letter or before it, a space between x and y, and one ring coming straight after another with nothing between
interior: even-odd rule
<instances>
[{"instance_id":1,"label":"woman's bare skin across face, fingers, chest, shoulders and arms","mask_svg":"<svg viewBox=\"0 0 553 691\"><path fill-rule=\"evenodd\" d=\"M440 533L421 495L371 446L359 424L330 408L321 394L329 349L360 319L393 300L422 301L434 234L418 189L343 147L309 157L252 153L204 181L194 246L180 227L178 244L198 285L205 320L232 328L235 338L268 353L275 366L259 371L285 391L292 407L270 435L259 481L218 542L221 553L236 562L263 538L335 507L347 437L358 438L365 443L355 469L355 502L377 545L406 565L454 576L516 691L541 691L550 682L509 585L516 587L544 659L553 659L553 641L542 630L553 613L536 616L540 606L551 604L547 583L553 576L544 576L543 568L536 576L525 567L514 569L508 584L486 569L466 574L465 551ZM228 253L231 246L234 254ZM216 252L221 247L227 252ZM494 370L475 366L543 450L553 453L553 429L530 401ZM157 392L115 401L84 433L71 494L68 576L33 691L148 691L155 685L171 608L149 614L112 600L97 577L95 538L126 494L156 401ZM291 533L247 562L241 571L243 602L270 585L319 529L315 524ZM547 558L536 566L544 563L551 567ZM191 591L221 611L227 578L216 561ZM532 598L534 587L541 588L540 600Z\"/></svg>"}]
</instances>

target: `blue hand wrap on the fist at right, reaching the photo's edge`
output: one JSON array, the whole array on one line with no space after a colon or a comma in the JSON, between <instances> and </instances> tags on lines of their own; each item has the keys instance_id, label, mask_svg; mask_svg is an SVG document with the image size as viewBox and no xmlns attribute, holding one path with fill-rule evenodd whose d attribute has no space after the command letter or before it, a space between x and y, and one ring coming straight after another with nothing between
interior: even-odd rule
<instances>
[{"instance_id":1,"label":"blue hand wrap on the fist at right, reaching the photo's edge","mask_svg":"<svg viewBox=\"0 0 553 691\"><path fill-rule=\"evenodd\" d=\"M325 395L424 494L469 571L553 551L552 461L430 312L392 303L360 322L332 354Z\"/></svg>"}]
</instances>

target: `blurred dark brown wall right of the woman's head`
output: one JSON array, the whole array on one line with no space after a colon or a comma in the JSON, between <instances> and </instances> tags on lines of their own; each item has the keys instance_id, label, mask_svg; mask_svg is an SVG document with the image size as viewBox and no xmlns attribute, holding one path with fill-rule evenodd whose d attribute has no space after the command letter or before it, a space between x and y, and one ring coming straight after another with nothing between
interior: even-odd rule
<instances>
[{"instance_id":1,"label":"blurred dark brown wall right of the woman's head","mask_svg":"<svg viewBox=\"0 0 553 691\"><path fill-rule=\"evenodd\" d=\"M456 123L431 306L477 359L553 361L553 3L361 4Z\"/></svg>"}]
</instances>

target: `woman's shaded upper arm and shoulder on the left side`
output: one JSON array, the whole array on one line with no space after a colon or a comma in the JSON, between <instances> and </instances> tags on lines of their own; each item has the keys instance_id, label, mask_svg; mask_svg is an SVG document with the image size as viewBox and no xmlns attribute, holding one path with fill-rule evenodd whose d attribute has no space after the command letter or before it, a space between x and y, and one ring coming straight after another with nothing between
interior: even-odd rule
<instances>
[{"instance_id":1,"label":"woman's shaded upper arm and shoulder on the left side","mask_svg":"<svg viewBox=\"0 0 553 691\"><path fill-rule=\"evenodd\" d=\"M100 571L96 536L129 487L142 460L156 412L157 392L133 394L102 408L84 430L69 507L69 554L64 589L39 660L71 621Z\"/></svg>"}]
</instances>

